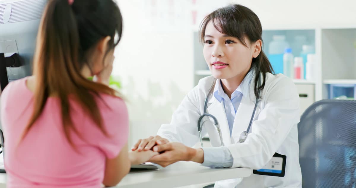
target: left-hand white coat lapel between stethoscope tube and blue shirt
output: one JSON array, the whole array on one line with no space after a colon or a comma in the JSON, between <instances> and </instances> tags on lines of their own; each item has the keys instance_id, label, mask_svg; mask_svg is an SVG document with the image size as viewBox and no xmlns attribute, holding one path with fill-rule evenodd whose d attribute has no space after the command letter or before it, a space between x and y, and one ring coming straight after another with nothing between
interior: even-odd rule
<instances>
[{"instance_id":1,"label":"left-hand white coat lapel between stethoscope tube and blue shirt","mask_svg":"<svg viewBox=\"0 0 356 188\"><path fill-rule=\"evenodd\" d=\"M221 135L223 136L224 145L225 146L230 145L231 144L230 129L229 129L229 124L227 123L223 101L221 101L220 103L218 100L215 99L214 96L210 96L210 100L208 101L207 112L215 116L216 119L218 120L218 124L220 125L220 129L221 129ZM210 120L212 119L210 118ZM218 140L220 140L220 138L218 138Z\"/></svg>"}]
</instances>

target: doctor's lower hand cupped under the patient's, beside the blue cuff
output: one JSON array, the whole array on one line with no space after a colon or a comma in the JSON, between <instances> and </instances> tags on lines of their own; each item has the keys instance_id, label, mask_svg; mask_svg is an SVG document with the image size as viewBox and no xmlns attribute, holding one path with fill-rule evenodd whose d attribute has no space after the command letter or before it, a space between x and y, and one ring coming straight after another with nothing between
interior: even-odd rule
<instances>
[{"instance_id":1,"label":"doctor's lower hand cupped under the patient's, beside the blue cuff","mask_svg":"<svg viewBox=\"0 0 356 188\"><path fill-rule=\"evenodd\" d=\"M164 145L157 145L153 147L153 151L163 153L152 157L148 161L157 163L162 167L166 167L169 164L173 164L178 161L194 161L197 163L204 162L203 149L194 149L179 142L170 142Z\"/></svg>"}]
</instances>

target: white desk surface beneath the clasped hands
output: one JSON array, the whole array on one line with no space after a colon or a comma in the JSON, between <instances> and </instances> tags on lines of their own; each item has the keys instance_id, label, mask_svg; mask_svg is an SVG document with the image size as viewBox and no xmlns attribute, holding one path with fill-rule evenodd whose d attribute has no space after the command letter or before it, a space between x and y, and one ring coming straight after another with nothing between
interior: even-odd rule
<instances>
[{"instance_id":1,"label":"white desk surface beneath the clasped hands","mask_svg":"<svg viewBox=\"0 0 356 188\"><path fill-rule=\"evenodd\" d=\"M199 163L180 161L161 170L135 170L112 188L173 188L248 177L250 168L208 168ZM0 173L0 188L6 187L6 174Z\"/></svg>"}]
</instances>

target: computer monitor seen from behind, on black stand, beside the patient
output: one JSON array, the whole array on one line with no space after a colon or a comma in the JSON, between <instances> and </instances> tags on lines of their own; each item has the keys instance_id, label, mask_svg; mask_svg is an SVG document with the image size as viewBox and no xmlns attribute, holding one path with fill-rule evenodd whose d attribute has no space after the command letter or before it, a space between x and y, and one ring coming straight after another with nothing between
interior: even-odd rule
<instances>
[{"instance_id":1,"label":"computer monitor seen from behind, on black stand, beside the patient","mask_svg":"<svg viewBox=\"0 0 356 188\"><path fill-rule=\"evenodd\" d=\"M36 36L46 3L47 0L0 0L1 89L4 89L8 82L32 74ZM1 130L0 124L4 151L4 136Z\"/></svg>"}]
</instances>

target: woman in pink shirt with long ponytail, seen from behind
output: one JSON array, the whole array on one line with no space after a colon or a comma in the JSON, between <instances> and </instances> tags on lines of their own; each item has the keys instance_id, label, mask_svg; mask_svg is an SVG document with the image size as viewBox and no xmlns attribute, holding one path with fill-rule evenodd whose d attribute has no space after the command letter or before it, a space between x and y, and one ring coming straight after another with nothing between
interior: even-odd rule
<instances>
[{"instance_id":1,"label":"woman in pink shirt with long ponytail, seen from behind","mask_svg":"<svg viewBox=\"0 0 356 188\"><path fill-rule=\"evenodd\" d=\"M115 186L158 155L128 152L126 105L108 87L121 33L112 0L49 0L33 75L1 95L8 188Z\"/></svg>"}]
</instances>

